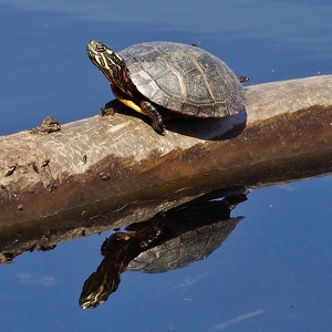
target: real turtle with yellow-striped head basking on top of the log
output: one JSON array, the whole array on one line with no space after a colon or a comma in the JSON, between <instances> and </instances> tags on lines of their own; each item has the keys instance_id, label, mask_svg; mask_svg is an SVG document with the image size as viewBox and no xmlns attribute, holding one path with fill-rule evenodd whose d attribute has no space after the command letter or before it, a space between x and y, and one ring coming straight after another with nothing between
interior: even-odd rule
<instances>
[{"instance_id":1,"label":"real turtle with yellow-striped head basking on top of the log","mask_svg":"<svg viewBox=\"0 0 332 332\"><path fill-rule=\"evenodd\" d=\"M87 55L111 82L115 97L151 117L164 133L164 116L226 117L245 108L240 81L227 64L211 53L176 42L145 42L115 53L92 40Z\"/></svg>"}]
</instances>

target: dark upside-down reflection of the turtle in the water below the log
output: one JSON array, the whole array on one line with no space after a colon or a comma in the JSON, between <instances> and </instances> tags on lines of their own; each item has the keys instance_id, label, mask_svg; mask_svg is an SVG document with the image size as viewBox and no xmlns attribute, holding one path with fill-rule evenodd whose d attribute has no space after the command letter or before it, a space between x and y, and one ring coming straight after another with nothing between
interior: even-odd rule
<instances>
[{"instance_id":1,"label":"dark upside-down reflection of the turtle in the water below the log","mask_svg":"<svg viewBox=\"0 0 332 332\"><path fill-rule=\"evenodd\" d=\"M113 234L101 248L105 258L84 282L80 305L95 308L105 302L125 270L166 272L208 257L243 218L230 218L230 211L247 199L245 189L224 196L222 200L211 200L220 195L201 196Z\"/></svg>"}]
</instances>

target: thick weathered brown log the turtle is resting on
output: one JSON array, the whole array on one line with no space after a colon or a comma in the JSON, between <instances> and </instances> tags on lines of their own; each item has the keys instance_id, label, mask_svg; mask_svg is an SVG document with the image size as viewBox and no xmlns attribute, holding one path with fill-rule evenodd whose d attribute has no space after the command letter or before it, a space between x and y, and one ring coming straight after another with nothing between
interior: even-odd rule
<instances>
[{"instance_id":1,"label":"thick weathered brown log the turtle is resting on","mask_svg":"<svg viewBox=\"0 0 332 332\"><path fill-rule=\"evenodd\" d=\"M0 250L29 237L30 249L52 248L232 185L329 174L331 90L332 75L253 85L246 112L169 121L164 136L118 104L60 132L1 136Z\"/></svg>"}]
</instances>

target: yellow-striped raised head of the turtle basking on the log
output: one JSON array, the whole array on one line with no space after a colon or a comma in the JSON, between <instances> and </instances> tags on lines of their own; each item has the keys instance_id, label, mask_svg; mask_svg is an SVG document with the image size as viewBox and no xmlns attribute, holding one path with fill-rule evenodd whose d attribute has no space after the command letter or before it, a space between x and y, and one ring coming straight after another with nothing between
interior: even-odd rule
<instances>
[{"instance_id":1,"label":"yellow-striped raised head of the turtle basking on the log","mask_svg":"<svg viewBox=\"0 0 332 332\"><path fill-rule=\"evenodd\" d=\"M86 52L92 63L98 68L110 82L117 82L121 72L125 69L122 56L96 40L87 43Z\"/></svg>"}]
</instances>

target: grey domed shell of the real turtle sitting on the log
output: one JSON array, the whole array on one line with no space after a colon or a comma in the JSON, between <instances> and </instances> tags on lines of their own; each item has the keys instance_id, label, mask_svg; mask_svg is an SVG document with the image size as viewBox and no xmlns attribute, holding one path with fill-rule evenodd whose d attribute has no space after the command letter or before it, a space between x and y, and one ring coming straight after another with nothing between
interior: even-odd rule
<instances>
[{"instance_id":1,"label":"grey domed shell of the real turtle sitting on the log","mask_svg":"<svg viewBox=\"0 0 332 332\"><path fill-rule=\"evenodd\" d=\"M245 107L245 90L238 76L205 50L147 42L118 54L136 89L156 105L197 117L225 117Z\"/></svg>"}]
</instances>

